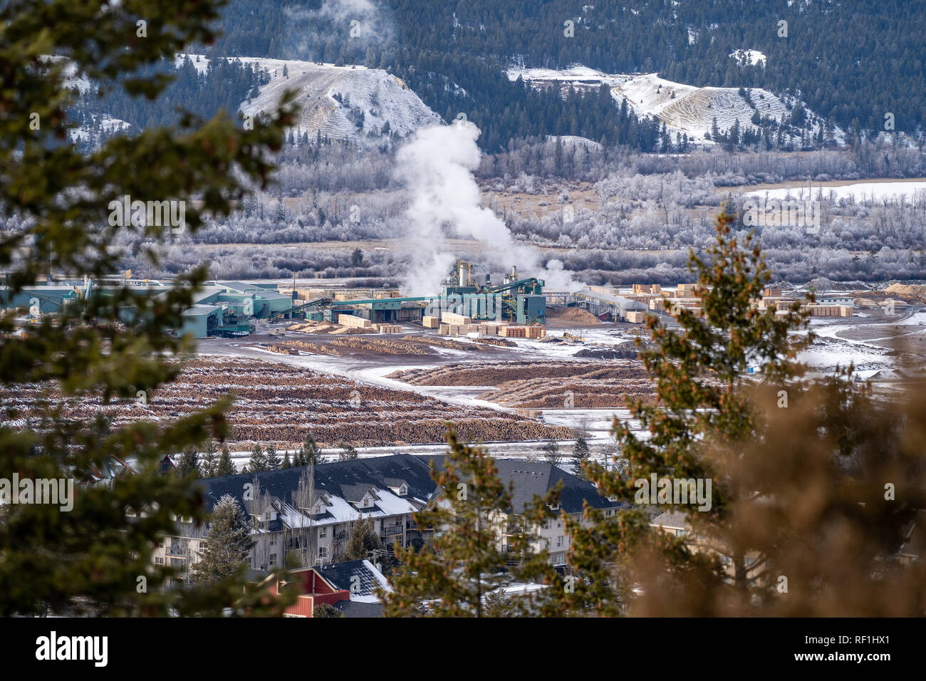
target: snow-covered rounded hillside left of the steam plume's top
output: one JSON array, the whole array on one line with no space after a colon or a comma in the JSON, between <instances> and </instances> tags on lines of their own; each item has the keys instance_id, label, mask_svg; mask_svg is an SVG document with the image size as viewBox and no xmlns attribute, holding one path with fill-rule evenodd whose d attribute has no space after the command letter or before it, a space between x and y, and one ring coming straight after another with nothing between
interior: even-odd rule
<instances>
[{"instance_id":1,"label":"snow-covered rounded hillside left of the steam plume's top","mask_svg":"<svg viewBox=\"0 0 926 681\"><path fill-rule=\"evenodd\" d=\"M197 70L206 70L206 57L190 57ZM182 58L182 55L178 57L178 63ZM404 82L382 69L236 58L266 69L270 76L257 97L242 102L242 113L257 115L271 111L286 90L294 90L295 101L301 107L294 126L296 132L308 132L310 136L321 132L326 137L363 145L377 142L386 123L389 124L386 134L394 132L405 136L441 121Z\"/></svg>"}]
</instances>

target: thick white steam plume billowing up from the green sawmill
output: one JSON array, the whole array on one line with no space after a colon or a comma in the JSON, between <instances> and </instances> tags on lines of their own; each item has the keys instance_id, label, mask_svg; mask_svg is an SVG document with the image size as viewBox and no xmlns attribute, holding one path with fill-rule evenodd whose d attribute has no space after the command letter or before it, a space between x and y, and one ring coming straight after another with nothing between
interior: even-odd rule
<instances>
[{"instance_id":1,"label":"thick white steam plume billowing up from the green sawmill","mask_svg":"<svg viewBox=\"0 0 926 681\"><path fill-rule=\"evenodd\" d=\"M448 237L483 241L490 247L487 262L500 270L516 265L527 276L544 279L550 289L582 288L559 260L541 265L540 253L515 242L505 222L482 208L479 185L472 171L482 152L476 144L479 128L468 120L422 128L396 153L399 177L414 196L408 208L407 237L415 245L407 291L426 296L440 291L456 254Z\"/></svg>"}]
</instances>

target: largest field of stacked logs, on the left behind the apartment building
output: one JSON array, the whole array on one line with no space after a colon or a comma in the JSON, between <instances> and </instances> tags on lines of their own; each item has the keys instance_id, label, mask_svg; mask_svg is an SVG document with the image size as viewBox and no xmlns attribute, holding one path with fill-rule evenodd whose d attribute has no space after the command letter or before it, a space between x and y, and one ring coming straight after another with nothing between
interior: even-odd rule
<instances>
[{"instance_id":1,"label":"largest field of stacked logs, on the left behind the apartment building","mask_svg":"<svg viewBox=\"0 0 926 681\"><path fill-rule=\"evenodd\" d=\"M40 399L46 391L64 418L93 422L95 414L103 412L114 428L138 421L168 424L234 393L227 413L229 446L239 451L256 442L273 443L280 450L294 448L309 431L323 447L340 442L355 447L443 443L445 421L457 423L463 437L483 442L569 437L568 428L516 414L447 404L411 391L256 359L190 360L174 382L162 385L144 404L133 398L104 404L98 395L69 399L53 386L40 384L0 388L0 399L19 411L17 427L34 428L34 422L48 413Z\"/></svg>"}]
</instances>

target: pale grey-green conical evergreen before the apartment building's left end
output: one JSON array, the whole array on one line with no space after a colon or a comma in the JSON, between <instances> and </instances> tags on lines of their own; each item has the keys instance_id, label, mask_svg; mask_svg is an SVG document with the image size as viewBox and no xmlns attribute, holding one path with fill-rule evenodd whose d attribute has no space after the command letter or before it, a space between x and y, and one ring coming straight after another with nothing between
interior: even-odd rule
<instances>
[{"instance_id":1,"label":"pale grey-green conical evergreen before the apartment building's left end","mask_svg":"<svg viewBox=\"0 0 926 681\"><path fill-rule=\"evenodd\" d=\"M212 510L208 534L199 551L199 561L194 564L194 582L211 584L238 574L253 548L251 527L244 511L235 498L224 495Z\"/></svg>"}]
</instances>

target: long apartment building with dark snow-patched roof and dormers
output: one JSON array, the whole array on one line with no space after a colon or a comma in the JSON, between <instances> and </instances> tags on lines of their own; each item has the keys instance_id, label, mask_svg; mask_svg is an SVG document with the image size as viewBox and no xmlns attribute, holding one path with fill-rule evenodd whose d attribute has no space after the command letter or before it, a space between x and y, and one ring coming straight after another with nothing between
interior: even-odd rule
<instances>
[{"instance_id":1,"label":"long apartment building with dark snow-patched roof and dormers","mask_svg":"<svg viewBox=\"0 0 926 681\"><path fill-rule=\"evenodd\" d=\"M443 466L444 456L395 454L370 459L332 461L314 467L297 467L262 473L240 473L199 481L211 511L219 498L230 495L251 517L256 545L250 567L265 572L287 564L294 554L304 566L335 561L344 548L352 523L370 518L379 533L383 549L397 542L403 548L431 538L432 528L419 527L414 513L428 504L439 503L442 490L435 486L429 461ZM583 503L614 513L621 504L598 494L591 483L580 480L547 462L497 460L503 483L515 487L512 509L496 510L491 517L498 528L498 546L507 549L509 520L524 510L534 495L563 484L560 505L581 518ZM564 564L569 537L561 518L534 528L535 549L549 549L551 562ZM179 520L176 532L165 536L156 548L154 561L180 572L189 581L198 552L206 537L206 526L195 527Z\"/></svg>"}]
</instances>

